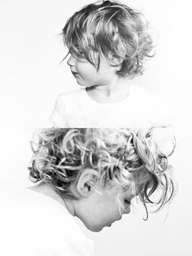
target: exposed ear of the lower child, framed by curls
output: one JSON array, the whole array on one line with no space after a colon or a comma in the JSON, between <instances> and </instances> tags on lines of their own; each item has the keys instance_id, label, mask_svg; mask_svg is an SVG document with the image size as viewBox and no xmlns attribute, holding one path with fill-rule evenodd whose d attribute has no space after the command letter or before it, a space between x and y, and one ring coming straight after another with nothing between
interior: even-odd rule
<instances>
[{"instance_id":1,"label":"exposed ear of the lower child, framed by curls","mask_svg":"<svg viewBox=\"0 0 192 256\"><path fill-rule=\"evenodd\" d=\"M88 197L95 187L95 179L98 178L98 172L93 169L85 169L80 175L76 184L76 190L81 196Z\"/></svg>"}]
</instances>

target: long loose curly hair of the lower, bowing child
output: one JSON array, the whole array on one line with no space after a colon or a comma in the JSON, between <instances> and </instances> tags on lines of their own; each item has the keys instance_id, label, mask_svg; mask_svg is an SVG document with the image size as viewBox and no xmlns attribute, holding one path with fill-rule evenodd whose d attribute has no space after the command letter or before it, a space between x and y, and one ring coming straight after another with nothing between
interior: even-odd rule
<instances>
[{"instance_id":1,"label":"long loose curly hair of the lower, bowing child","mask_svg":"<svg viewBox=\"0 0 192 256\"><path fill-rule=\"evenodd\" d=\"M165 128L162 128L165 129ZM175 190L166 174L171 166L168 156L155 143L154 130L108 128L41 129L38 142L33 144L33 159L29 177L33 182L44 181L56 191L76 199L70 186L77 183L85 168L98 171L94 182L110 187L117 184L126 189L133 185L143 204L161 209ZM35 149L35 146L37 147ZM159 191L158 201L151 195ZM146 209L148 216L148 211ZM147 217L148 218L148 217Z\"/></svg>"}]
</instances>

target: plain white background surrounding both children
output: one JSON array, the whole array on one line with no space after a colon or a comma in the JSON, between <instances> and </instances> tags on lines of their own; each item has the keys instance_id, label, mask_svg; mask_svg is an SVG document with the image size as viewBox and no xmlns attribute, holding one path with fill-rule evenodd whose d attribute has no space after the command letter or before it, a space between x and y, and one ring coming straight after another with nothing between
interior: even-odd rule
<instances>
[{"instance_id":1,"label":"plain white background surrounding both children","mask_svg":"<svg viewBox=\"0 0 192 256\"><path fill-rule=\"evenodd\" d=\"M61 91L77 88L59 33L74 11L89 1L1 0L0 2L0 156L1 191L24 183L30 161L29 141L47 121ZM103 232L87 232L97 255L192 256L191 228L191 57L190 0L130 0L141 10L157 38L156 55L132 83L159 91L171 109L177 151L172 157L178 184L168 209L124 216ZM167 216L168 214L168 216ZM167 218L166 218L167 216ZM165 220L166 218L166 220Z\"/></svg>"}]
</instances>

